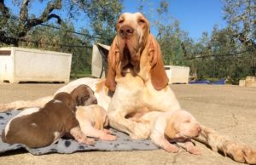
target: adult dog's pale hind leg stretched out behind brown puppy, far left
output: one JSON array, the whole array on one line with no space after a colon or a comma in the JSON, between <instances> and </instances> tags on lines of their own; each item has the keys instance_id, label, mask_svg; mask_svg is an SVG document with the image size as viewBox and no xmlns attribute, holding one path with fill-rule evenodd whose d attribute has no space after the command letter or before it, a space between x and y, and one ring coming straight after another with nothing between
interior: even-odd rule
<instances>
[{"instance_id":1,"label":"adult dog's pale hind leg stretched out behind brown puppy, far left","mask_svg":"<svg viewBox=\"0 0 256 165\"><path fill-rule=\"evenodd\" d=\"M46 96L43 98L40 98L38 100L19 100L14 101L6 104L0 104L0 112L3 111L9 111L9 110L19 110L24 108L30 108L30 107L43 107L49 100L52 100L53 96Z\"/></svg>"}]
</instances>

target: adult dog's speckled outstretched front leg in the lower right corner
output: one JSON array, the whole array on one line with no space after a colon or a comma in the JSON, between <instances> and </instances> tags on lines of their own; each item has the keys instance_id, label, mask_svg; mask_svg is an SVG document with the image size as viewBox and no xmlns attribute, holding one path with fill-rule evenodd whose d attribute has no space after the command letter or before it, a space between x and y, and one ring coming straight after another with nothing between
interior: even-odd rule
<instances>
[{"instance_id":1,"label":"adult dog's speckled outstretched front leg in the lower right corner","mask_svg":"<svg viewBox=\"0 0 256 165\"><path fill-rule=\"evenodd\" d=\"M194 139L207 145L212 151L223 153L236 162L256 164L256 151L250 146L232 141L211 128L201 125L201 129L200 136Z\"/></svg>"}]
</instances>

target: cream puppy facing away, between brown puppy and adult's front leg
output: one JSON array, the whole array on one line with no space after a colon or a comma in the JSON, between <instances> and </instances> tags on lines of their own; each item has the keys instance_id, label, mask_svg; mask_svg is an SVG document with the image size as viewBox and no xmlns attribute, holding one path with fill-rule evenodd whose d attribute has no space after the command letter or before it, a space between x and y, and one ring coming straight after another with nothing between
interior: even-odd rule
<instances>
[{"instance_id":1,"label":"cream puppy facing away, between brown puppy and adult's front leg","mask_svg":"<svg viewBox=\"0 0 256 165\"><path fill-rule=\"evenodd\" d=\"M76 117L79 121L81 130L90 137L115 140L116 137L108 129L107 111L100 105L78 106Z\"/></svg>"}]
</instances>

